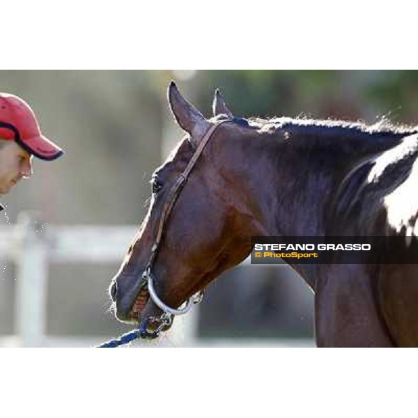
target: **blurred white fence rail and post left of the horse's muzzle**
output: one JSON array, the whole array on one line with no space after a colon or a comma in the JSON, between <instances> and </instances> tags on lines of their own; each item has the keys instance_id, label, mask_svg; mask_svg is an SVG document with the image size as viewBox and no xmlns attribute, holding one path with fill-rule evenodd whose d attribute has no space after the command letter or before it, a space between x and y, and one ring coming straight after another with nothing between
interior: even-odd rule
<instances>
[{"instance_id":1,"label":"blurred white fence rail and post left of the horse's muzzle","mask_svg":"<svg viewBox=\"0 0 418 418\"><path fill-rule=\"evenodd\" d=\"M16 225L1 226L0 254L17 265L15 318L19 345L42 346L49 263L121 262L136 231L137 226L44 228L30 212L21 213Z\"/></svg>"}]
</instances>

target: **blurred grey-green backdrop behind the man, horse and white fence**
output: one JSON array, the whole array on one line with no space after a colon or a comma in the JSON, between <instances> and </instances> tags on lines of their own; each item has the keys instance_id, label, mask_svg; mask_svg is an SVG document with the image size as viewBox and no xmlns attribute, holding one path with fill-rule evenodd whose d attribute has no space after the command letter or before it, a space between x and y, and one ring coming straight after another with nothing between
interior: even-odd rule
<instances>
[{"instance_id":1,"label":"blurred grey-green backdrop behind the man, horse and white fence","mask_svg":"<svg viewBox=\"0 0 418 418\"><path fill-rule=\"evenodd\" d=\"M139 225L150 176L183 135L167 106L171 79L206 116L220 88L237 116L418 121L417 71L0 71L0 91L29 102L42 132L65 149L56 162L34 160L33 178L2 196L0 226L15 224L24 210L36 212L45 231ZM120 261L48 263L40 345L89 346L131 329L108 310L107 288L123 253ZM0 275L0 345L19 345L16 263L0 258ZM314 344L313 295L286 267L224 273L193 321L203 346ZM176 338L167 345L182 345Z\"/></svg>"}]
</instances>

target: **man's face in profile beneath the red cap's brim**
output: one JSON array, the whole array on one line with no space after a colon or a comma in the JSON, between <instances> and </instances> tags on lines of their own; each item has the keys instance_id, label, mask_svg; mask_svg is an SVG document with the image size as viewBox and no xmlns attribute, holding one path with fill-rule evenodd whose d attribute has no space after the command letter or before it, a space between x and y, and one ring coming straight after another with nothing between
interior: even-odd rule
<instances>
[{"instance_id":1,"label":"man's face in profile beneath the red cap's brim","mask_svg":"<svg viewBox=\"0 0 418 418\"><path fill-rule=\"evenodd\" d=\"M6 194L22 178L32 176L32 155L15 141L0 149L0 194Z\"/></svg>"}]
</instances>

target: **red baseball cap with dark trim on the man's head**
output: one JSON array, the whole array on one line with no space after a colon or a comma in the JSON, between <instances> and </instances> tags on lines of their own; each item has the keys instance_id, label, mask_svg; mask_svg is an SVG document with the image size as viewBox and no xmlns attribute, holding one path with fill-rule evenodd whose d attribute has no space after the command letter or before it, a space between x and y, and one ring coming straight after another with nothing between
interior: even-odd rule
<instances>
[{"instance_id":1,"label":"red baseball cap with dark trim on the man's head","mask_svg":"<svg viewBox=\"0 0 418 418\"><path fill-rule=\"evenodd\" d=\"M16 141L41 160L55 160L63 150L40 132L33 110L17 96L0 93L0 139Z\"/></svg>"}]
</instances>

